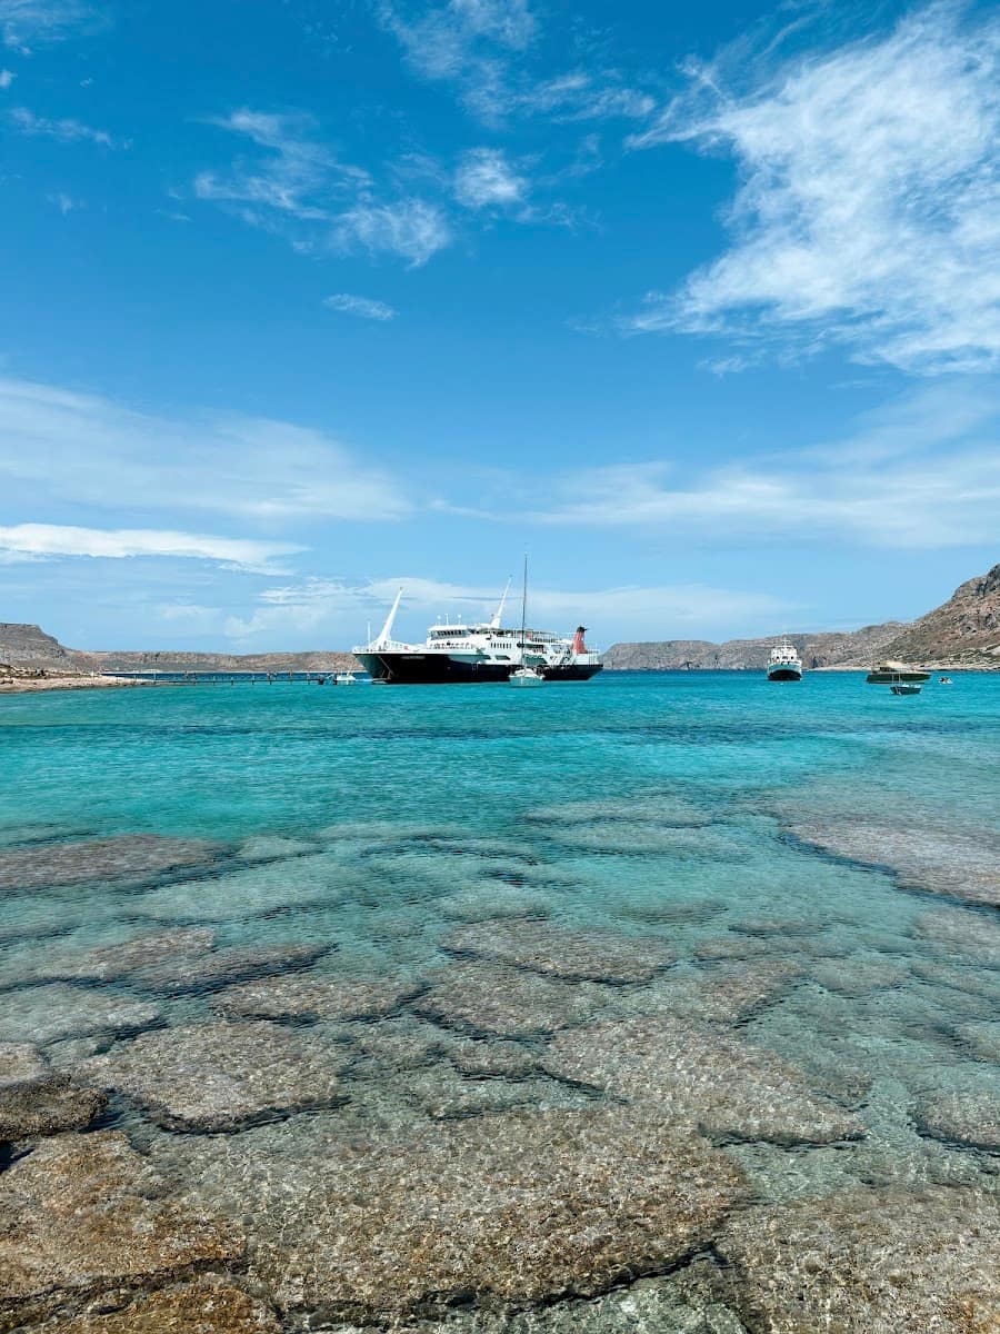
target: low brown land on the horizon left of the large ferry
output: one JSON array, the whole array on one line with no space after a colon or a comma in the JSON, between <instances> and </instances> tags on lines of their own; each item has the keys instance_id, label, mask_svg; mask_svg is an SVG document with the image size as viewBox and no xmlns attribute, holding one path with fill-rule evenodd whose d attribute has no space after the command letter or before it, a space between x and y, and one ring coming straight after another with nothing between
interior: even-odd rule
<instances>
[{"instance_id":1,"label":"low brown land on the horizon left of the large ferry","mask_svg":"<svg viewBox=\"0 0 1000 1334\"><path fill-rule=\"evenodd\" d=\"M49 674L105 671L357 671L353 654L87 652L64 648L37 626L0 622L0 663Z\"/></svg>"}]
</instances>

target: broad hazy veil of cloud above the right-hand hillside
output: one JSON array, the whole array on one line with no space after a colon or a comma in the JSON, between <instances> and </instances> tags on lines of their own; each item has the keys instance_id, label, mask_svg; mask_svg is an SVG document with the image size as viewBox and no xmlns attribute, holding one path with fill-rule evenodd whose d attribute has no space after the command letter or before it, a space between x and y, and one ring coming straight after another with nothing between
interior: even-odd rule
<instances>
[{"instance_id":1,"label":"broad hazy veil of cloud above the right-hand hillside","mask_svg":"<svg viewBox=\"0 0 1000 1334\"><path fill-rule=\"evenodd\" d=\"M872 414L843 442L673 480L653 462L565 479L547 524L665 528L727 539L836 536L935 548L996 540L1000 394L943 382Z\"/></svg>"}]
</instances>

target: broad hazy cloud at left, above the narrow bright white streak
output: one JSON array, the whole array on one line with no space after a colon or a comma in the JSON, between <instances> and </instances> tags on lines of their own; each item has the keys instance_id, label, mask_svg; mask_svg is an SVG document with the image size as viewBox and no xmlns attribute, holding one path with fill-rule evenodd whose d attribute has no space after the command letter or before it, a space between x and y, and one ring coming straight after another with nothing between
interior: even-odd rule
<instances>
[{"instance_id":1,"label":"broad hazy cloud at left, above the narrow bright white streak","mask_svg":"<svg viewBox=\"0 0 1000 1334\"><path fill-rule=\"evenodd\" d=\"M399 519L411 503L323 431L236 412L167 418L0 376L8 503L212 512L255 522Z\"/></svg>"}]
</instances>

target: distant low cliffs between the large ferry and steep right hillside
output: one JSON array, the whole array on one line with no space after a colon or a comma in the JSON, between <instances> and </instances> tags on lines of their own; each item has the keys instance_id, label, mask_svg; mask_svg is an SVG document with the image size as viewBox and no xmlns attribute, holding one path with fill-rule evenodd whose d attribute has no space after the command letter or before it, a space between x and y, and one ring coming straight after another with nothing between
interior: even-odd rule
<instances>
[{"instance_id":1,"label":"distant low cliffs between the large ferry and steep right hillside","mask_svg":"<svg viewBox=\"0 0 1000 1334\"><path fill-rule=\"evenodd\" d=\"M855 659L871 659L899 636L904 622L889 620L883 626L843 634L789 635L799 656L808 668L839 667ZM777 640L729 639L713 644L704 639L665 639L656 643L613 644L604 654L607 671L763 671Z\"/></svg>"}]
</instances>

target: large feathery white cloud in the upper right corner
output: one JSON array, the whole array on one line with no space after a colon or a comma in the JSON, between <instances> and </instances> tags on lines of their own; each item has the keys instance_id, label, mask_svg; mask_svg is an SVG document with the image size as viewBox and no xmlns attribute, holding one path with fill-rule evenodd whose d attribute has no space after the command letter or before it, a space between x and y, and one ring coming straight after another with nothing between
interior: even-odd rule
<instances>
[{"instance_id":1,"label":"large feathery white cloud in the upper right corner","mask_svg":"<svg viewBox=\"0 0 1000 1334\"><path fill-rule=\"evenodd\" d=\"M911 372L1000 360L1000 19L936 4L735 91L725 63L632 137L731 153L732 248L625 321L845 344Z\"/></svg>"}]
</instances>

